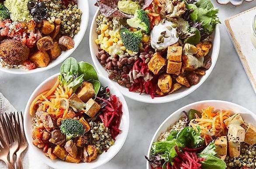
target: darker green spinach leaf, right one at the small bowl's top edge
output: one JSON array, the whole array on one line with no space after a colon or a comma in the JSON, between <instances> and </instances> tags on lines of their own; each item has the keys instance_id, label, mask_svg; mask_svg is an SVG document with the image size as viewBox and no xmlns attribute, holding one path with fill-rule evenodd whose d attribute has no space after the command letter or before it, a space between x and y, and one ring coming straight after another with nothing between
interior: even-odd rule
<instances>
[{"instance_id":1,"label":"darker green spinach leaf, right one at the small bowl's top edge","mask_svg":"<svg viewBox=\"0 0 256 169\"><path fill-rule=\"evenodd\" d=\"M84 61L80 61L78 63L78 73L84 74L83 79L85 81L88 81L90 79L98 80L97 71L95 71L91 64L86 63Z\"/></svg>"}]
</instances>

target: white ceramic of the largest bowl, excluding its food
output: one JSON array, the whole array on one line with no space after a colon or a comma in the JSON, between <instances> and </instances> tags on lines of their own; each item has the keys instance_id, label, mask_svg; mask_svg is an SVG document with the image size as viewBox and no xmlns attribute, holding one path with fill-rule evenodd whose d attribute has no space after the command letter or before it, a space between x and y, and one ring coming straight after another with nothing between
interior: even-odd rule
<instances>
[{"instance_id":1,"label":"white ceramic of the largest bowl, excluding its food","mask_svg":"<svg viewBox=\"0 0 256 169\"><path fill-rule=\"evenodd\" d=\"M102 65L96 58L96 53L98 52L98 45L95 44L94 40L97 39L98 34L96 33L97 24L96 24L95 20L99 13L100 13L100 10L97 10L93 17L93 21L92 21L92 24L90 27L90 40L89 40L90 41L90 52L91 52L91 57L93 59L93 63L95 65L97 71L100 74L104 75L105 77L108 77L107 71L102 67ZM182 89L174 92L171 95L167 95L164 97L156 97L156 98L152 99L150 97L150 95L139 95L139 93L130 92L127 88L125 88L124 86L120 86L117 82L114 82L114 84L116 84L118 86L119 90L126 97L131 98L136 101L145 102L145 103L166 103L166 102L177 100L179 98L183 98L183 97L187 96L188 94L190 94L191 92L193 92L194 90L196 90L199 86L201 86L201 84L204 83L204 81L211 74L211 71L213 70L213 68L216 64L216 61L218 59L219 50L220 50L220 30L219 30L218 25L217 25L216 30L213 33L213 35L214 35L213 48L211 49L211 53L209 54L209 55L211 55L211 59L212 59L211 68L206 71L206 74L204 76L201 77L201 79L197 85L191 86L190 88L182 88Z\"/></svg>"}]
</instances>

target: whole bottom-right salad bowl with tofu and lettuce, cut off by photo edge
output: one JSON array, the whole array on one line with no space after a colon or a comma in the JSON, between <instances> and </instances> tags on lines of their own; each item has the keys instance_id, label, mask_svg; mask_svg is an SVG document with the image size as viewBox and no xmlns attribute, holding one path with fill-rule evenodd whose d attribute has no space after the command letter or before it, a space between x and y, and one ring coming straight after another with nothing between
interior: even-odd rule
<instances>
[{"instance_id":1,"label":"whole bottom-right salad bowl with tofu and lettuce, cut off by photo edge","mask_svg":"<svg viewBox=\"0 0 256 169\"><path fill-rule=\"evenodd\" d=\"M256 115L209 100L186 105L159 126L147 169L255 169Z\"/></svg>"}]
</instances>

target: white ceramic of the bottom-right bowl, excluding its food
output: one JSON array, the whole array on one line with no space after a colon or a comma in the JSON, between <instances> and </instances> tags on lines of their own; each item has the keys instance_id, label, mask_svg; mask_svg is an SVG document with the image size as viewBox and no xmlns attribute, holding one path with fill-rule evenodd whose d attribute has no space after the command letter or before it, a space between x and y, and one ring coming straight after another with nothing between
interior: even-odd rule
<instances>
[{"instance_id":1,"label":"white ceramic of the bottom-right bowl, excluding its food","mask_svg":"<svg viewBox=\"0 0 256 169\"><path fill-rule=\"evenodd\" d=\"M201 110L202 108L207 108L208 106L212 106L216 109L223 109L223 110L230 110L232 112L232 115L235 113L240 113L242 115L242 118L247 123L256 123L256 115L249 111L248 109L237 105L235 103L231 103L228 101L221 101L221 100L206 100L206 101L198 101L191 103L189 105L186 105L176 112L172 113L166 120L159 126L159 128L156 130L150 145L147 156L150 157L150 148L153 142L156 142L158 137L161 135L161 133L166 132L167 129L170 127L170 125L174 124L175 122L178 122L180 117L183 115L183 111L188 112L191 108L196 110ZM171 112L170 112L171 113ZM151 169L149 162L147 162L147 169Z\"/></svg>"}]
</instances>

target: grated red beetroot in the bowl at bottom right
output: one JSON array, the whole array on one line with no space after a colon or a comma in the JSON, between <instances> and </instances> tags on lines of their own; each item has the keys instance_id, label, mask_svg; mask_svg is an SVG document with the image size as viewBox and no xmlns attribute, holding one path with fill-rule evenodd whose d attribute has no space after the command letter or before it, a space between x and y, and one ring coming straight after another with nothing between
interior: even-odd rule
<instances>
[{"instance_id":1,"label":"grated red beetroot in the bowl at bottom right","mask_svg":"<svg viewBox=\"0 0 256 169\"><path fill-rule=\"evenodd\" d=\"M179 152L177 147L175 147L177 156L173 159L172 169L201 169L201 161L204 158L198 157L196 152Z\"/></svg>"}]
</instances>

